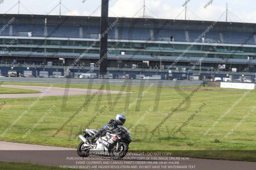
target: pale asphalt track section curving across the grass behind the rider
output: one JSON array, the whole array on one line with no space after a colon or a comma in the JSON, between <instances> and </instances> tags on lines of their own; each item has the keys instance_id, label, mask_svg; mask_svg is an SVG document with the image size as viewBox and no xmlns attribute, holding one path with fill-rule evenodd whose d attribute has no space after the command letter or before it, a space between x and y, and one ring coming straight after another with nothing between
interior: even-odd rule
<instances>
[{"instance_id":1,"label":"pale asphalt track section curving across the grass behind the rider","mask_svg":"<svg viewBox=\"0 0 256 170\"><path fill-rule=\"evenodd\" d=\"M45 92L48 87L43 86L26 86L26 85L2 85L1 87L8 88L19 88L19 89L28 89L36 90L40 92ZM64 88L64 87L53 87L44 95L45 96L70 96L70 95L86 95L97 92L97 89L77 89L77 88ZM99 94L117 94L120 91L113 90L101 90ZM127 92L120 92L127 93ZM26 98L26 97L39 97L41 93L28 93L28 94L0 94L1 98Z\"/></svg>"}]
</instances>

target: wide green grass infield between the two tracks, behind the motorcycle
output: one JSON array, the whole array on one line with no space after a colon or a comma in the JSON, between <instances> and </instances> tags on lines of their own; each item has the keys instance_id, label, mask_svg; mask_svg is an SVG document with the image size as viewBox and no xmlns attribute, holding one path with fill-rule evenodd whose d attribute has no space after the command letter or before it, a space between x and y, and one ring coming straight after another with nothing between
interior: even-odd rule
<instances>
[{"instance_id":1,"label":"wide green grass infield between the two tracks, behind the motorcycle","mask_svg":"<svg viewBox=\"0 0 256 170\"><path fill-rule=\"evenodd\" d=\"M17 83L8 84L15 85ZM50 86L50 84L21 83L19 85ZM64 84L53 84L53 86L65 87ZM99 87L100 85L92 86L93 89L98 89ZM70 85L70 88L88 88L88 85L72 84ZM138 97L140 88L141 87L139 86L131 86L131 89L123 89L123 91L134 92L130 94L130 104L132 104ZM177 107L195 87L184 87L189 90L168 88L172 87L163 87L161 94L156 94L158 90L156 87L151 88L141 99L140 108L139 102L137 102L137 109L135 104L131 110L125 113L127 117L125 126L129 129L140 119L145 111L155 103L156 96L159 97L158 109L155 112L149 112L144 120L141 121L136 128L132 129L132 143L129 146L130 150L189 150L191 152L180 153L176 151L172 153L173 155L186 155L195 158L256 161L255 152L242 152L242 150L256 150L256 111L253 112L232 135L228 138L224 137L229 130L231 130L236 123L256 105L255 90L252 90L250 94L238 103L236 107L234 107L234 109L215 126L214 129L204 136L203 133L210 128L212 124L220 118L220 115L224 114L225 111L247 90L201 87L200 91L195 93L191 98L191 104L189 107L186 106L187 109L178 110L155 132L154 135L151 135L150 131L171 112L171 108ZM121 86L111 85L110 89L119 91ZM145 89L146 87L144 90ZM143 90L141 90L141 92L142 91ZM0 140L76 148L80 139L74 140L73 137L79 132L81 127L84 127L84 125L96 115L101 107L106 105L108 108L98 116L89 128L99 129L106 124L109 119L115 118L117 113L122 113L129 105L129 98L123 94L116 103L116 106L113 109L110 109L110 105L114 103L117 96L117 94L111 94L112 101L110 101L110 96L107 95L96 96L88 105L87 109L84 109L76 115L76 117L69 122L68 126L63 128L56 137L52 137L54 132L56 132L56 130L68 120L69 116L73 115L85 102L85 95L68 96L66 107L63 107L62 109L61 107L64 106L62 101L65 98L61 96L42 98L39 103L31 108L31 110L21 118L21 120L4 135L4 137L2 137L1 134L4 130L9 127L10 124L35 100L35 98L26 98L26 100L22 98L15 100L4 99L7 104L1 110L0 114ZM172 129L179 128L203 103L206 104L204 109L199 112L187 126L183 127L180 133L172 137L172 133L174 132ZM39 126L32 130L31 134L25 139L22 139L21 137L25 132L27 132L52 105L55 105L56 107L44 119L44 122L40 123ZM219 143L214 143L216 136L220 140ZM212 152L208 152L208 150L212 150ZM218 152L216 152L216 150ZM223 150L230 150L232 152L223 152ZM240 152L235 152L234 150L240 150Z\"/></svg>"}]
</instances>

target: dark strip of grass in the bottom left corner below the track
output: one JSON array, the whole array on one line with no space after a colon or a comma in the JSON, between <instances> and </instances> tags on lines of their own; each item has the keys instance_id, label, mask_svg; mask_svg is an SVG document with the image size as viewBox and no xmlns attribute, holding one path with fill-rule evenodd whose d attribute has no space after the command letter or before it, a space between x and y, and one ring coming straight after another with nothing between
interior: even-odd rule
<instances>
[{"instance_id":1,"label":"dark strip of grass in the bottom left corner below the track","mask_svg":"<svg viewBox=\"0 0 256 170\"><path fill-rule=\"evenodd\" d=\"M57 166L45 166L31 163L20 163L20 162L3 162L0 161L0 169L8 169L8 170L60 170ZM67 170L74 170L70 168L65 168Z\"/></svg>"}]
</instances>

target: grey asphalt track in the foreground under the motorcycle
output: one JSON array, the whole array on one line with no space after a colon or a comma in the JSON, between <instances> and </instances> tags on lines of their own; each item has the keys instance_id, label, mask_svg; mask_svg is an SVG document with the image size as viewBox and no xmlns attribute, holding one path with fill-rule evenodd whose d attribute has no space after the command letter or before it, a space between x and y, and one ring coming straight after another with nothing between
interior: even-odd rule
<instances>
[{"instance_id":1,"label":"grey asphalt track in the foreground under the motorcycle","mask_svg":"<svg viewBox=\"0 0 256 170\"><path fill-rule=\"evenodd\" d=\"M238 162L226 160L193 159L179 160L179 164L173 164L176 160L163 160L164 156L129 155L124 160L113 160L109 157L91 155L87 159L74 160L78 157L76 149L42 146L33 144L19 144L0 142L0 161L30 162L51 166L83 166L87 169L112 169L106 166L120 166L116 169L196 169L196 170L255 170L255 162ZM147 158L147 159L146 159ZM70 160L73 159L73 160ZM157 159L157 160L156 160ZM161 160L160 160L161 159ZM177 162L177 161L176 161ZM139 166L151 166L151 168L139 168ZM87 166L87 167L86 167ZM90 166L90 168L88 168ZM93 168L101 166L102 168ZM122 168L121 166L137 166L138 168ZM160 167L159 167L160 166ZM187 166L187 168L161 168L161 166ZM190 167L190 168L189 168Z\"/></svg>"}]
</instances>

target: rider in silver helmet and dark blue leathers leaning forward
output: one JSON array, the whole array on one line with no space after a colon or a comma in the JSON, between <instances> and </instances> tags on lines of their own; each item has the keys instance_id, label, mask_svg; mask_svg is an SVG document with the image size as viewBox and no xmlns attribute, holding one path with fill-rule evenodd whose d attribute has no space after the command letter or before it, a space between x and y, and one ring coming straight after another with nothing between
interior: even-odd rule
<instances>
[{"instance_id":1,"label":"rider in silver helmet and dark blue leathers leaning forward","mask_svg":"<svg viewBox=\"0 0 256 170\"><path fill-rule=\"evenodd\" d=\"M105 126L100 128L99 131L91 139L89 139L89 141L93 143L96 138L105 136L107 130L119 130L120 128L118 128L117 125L124 125L125 120L126 117L124 116L124 114L117 114L116 119L110 119L109 122L105 124Z\"/></svg>"}]
</instances>

